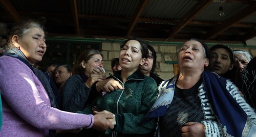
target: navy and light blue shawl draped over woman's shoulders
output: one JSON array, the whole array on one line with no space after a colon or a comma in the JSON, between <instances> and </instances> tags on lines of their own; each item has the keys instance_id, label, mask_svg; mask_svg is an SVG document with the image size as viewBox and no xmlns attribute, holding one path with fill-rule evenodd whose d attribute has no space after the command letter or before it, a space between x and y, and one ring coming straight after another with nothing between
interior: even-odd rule
<instances>
[{"instance_id":1,"label":"navy and light blue shawl draped over woman's shoulders","mask_svg":"<svg viewBox=\"0 0 256 137\"><path fill-rule=\"evenodd\" d=\"M146 116L146 120L161 117L166 114L167 108L174 97L174 87L178 75L165 80L159 87L159 95L156 102ZM203 72L203 85L219 122L225 126L227 133L232 136L242 136L247 114L238 102L226 89L226 79L212 72ZM166 87L166 88L162 88Z\"/></svg>"}]
</instances>

